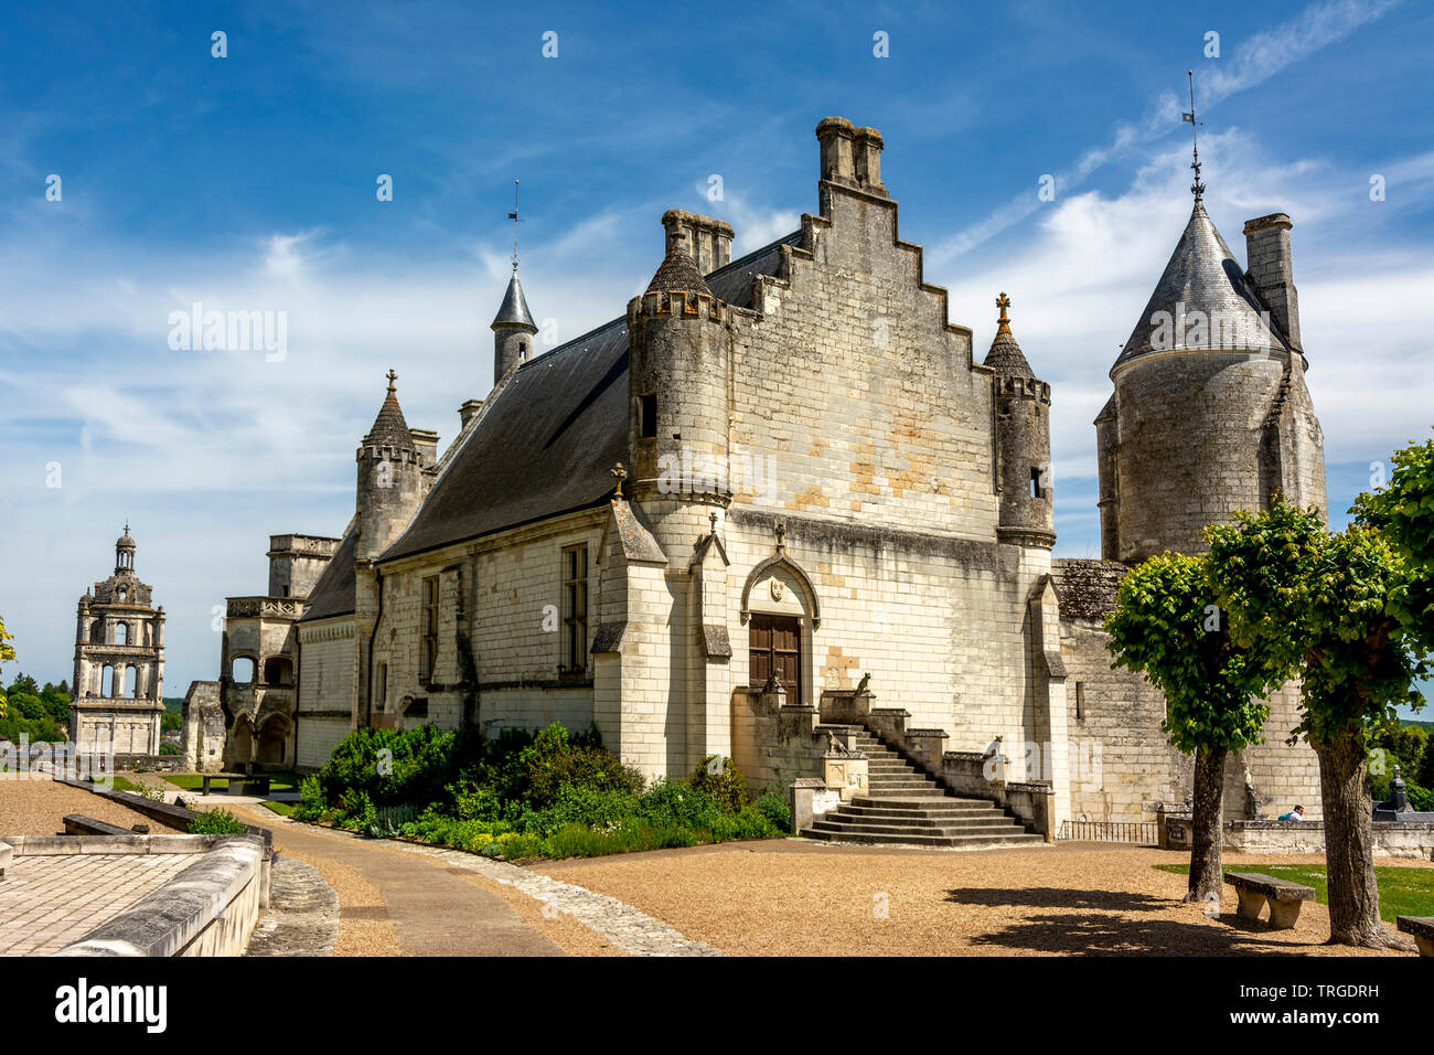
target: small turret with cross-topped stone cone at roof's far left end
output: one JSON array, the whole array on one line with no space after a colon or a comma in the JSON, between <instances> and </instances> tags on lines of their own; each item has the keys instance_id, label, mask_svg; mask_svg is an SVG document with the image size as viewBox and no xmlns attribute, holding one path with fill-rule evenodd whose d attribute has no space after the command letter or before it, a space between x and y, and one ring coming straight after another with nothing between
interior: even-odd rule
<instances>
[{"instance_id":1,"label":"small turret with cross-topped stone cone at roof's far left end","mask_svg":"<svg viewBox=\"0 0 1434 1055\"><path fill-rule=\"evenodd\" d=\"M423 500L423 452L403 419L396 380L397 375L389 370L389 393L354 455L358 462L358 560L373 560L389 548Z\"/></svg>"}]
</instances>

